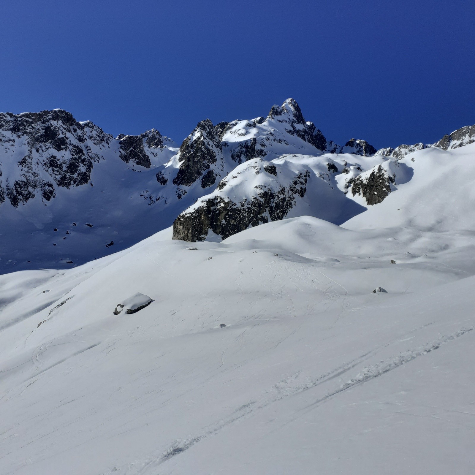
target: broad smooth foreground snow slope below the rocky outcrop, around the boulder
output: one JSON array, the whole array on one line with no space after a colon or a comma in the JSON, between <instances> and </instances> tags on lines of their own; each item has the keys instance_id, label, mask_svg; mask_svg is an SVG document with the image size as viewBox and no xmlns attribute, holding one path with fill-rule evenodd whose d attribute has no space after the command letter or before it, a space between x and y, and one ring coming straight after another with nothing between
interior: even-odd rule
<instances>
[{"instance_id":1,"label":"broad smooth foreground snow slope below the rocky outcrop, around the boulder","mask_svg":"<svg viewBox=\"0 0 475 475\"><path fill-rule=\"evenodd\" d=\"M474 241L427 237L167 229L0 277L0 473L473 473Z\"/></svg>"}]
</instances>

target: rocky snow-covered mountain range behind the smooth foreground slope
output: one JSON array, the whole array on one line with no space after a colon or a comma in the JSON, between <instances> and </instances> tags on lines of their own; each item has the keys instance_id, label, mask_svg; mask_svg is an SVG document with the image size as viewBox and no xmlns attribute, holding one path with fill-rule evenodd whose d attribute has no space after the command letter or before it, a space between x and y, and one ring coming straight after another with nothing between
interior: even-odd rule
<instances>
[{"instance_id":1,"label":"rocky snow-covered mountain range behind the smooth foreground slope","mask_svg":"<svg viewBox=\"0 0 475 475\"><path fill-rule=\"evenodd\" d=\"M180 147L155 129L114 138L63 110L0 114L0 271L74 266L173 222L190 241L302 214L341 224L410 179L408 154L474 140L475 126L430 146L338 145L293 99L201 121Z\"/></svg>"}]
</instances>

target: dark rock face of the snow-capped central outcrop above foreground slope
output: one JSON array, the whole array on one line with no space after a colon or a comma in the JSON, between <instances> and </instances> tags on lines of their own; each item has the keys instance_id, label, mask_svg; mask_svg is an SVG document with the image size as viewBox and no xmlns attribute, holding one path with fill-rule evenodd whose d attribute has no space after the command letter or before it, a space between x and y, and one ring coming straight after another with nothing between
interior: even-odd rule
<instances>
[{"instance_id":1,"label":"dark rock face of the snow-capped central outcrop above foreground slope","mask_svg":"<svg viewBox=\"0 0 475 475\"><path fill-rule=\"evenodd\" d=\"M310 172L299 173L290 186L277 189L261 185L257 197L238 203L221 196L202 201L190 212L184 212L173 223L173 239L196 242L206 239L208 230L226 239L249 226L285 218L295 206L295 196L304 197Z\"/></svg>"}]
</instances>

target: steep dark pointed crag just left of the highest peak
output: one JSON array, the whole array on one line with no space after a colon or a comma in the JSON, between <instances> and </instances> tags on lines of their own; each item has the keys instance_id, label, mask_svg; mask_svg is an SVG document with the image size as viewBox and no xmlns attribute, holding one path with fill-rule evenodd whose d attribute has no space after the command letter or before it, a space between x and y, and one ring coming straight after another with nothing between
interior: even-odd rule
<instances>
[{"instance_id":1,"label":"steep dark pointed crag just left of the highest peak","mask_svg":"<svg viewBox=\"0 0 475 475\"><path fill-rule=\"evenodd\" d=\"M192 185L203 172L217 163L217 154L222 154L222 147L213 124L209 119L199 122L180 146L180 169L173 183L178 186ZM205 183L210 186L214 180L211 182L209 175Z\"/></svg>"}]
</instances>

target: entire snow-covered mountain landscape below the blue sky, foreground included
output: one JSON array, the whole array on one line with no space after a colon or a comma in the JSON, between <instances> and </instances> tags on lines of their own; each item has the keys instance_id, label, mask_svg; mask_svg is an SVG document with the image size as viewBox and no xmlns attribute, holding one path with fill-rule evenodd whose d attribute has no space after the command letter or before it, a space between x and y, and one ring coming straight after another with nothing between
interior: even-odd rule
<instances>
[{"instance_id":1,"label":"entire snow-covered mountain landscape below the blue sky, foreground included","mask_svg":"<svg viewBox=\"0 0 475 475\"><path fill-rule=\"evenodd\" d=\"M474 127L1 121L0 475L475 473Z\"/></svg>"}]
</instances>

